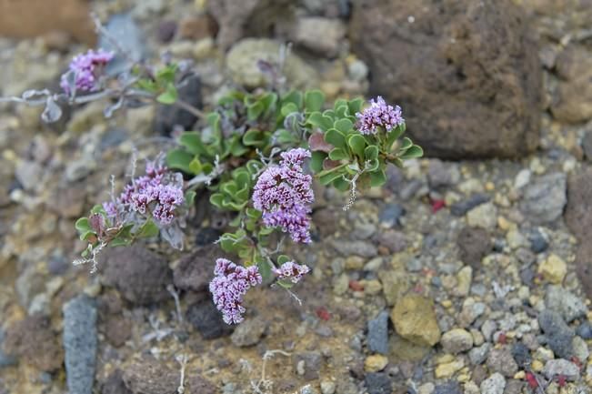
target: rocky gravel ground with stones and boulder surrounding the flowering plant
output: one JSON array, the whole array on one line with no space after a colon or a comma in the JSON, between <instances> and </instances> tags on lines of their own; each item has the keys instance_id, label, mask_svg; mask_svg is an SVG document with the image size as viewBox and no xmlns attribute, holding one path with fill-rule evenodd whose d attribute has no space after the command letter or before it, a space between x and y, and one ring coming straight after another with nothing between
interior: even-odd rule
<instances>
[{"instance_id":1,"label":"rocky gravel ground with stones and boulder surrounding the flowering plant","mask_svg":"<svg viewBox=\"0 0 592 394\"><path fill-rule=\"evenodd\" d=\"M71 265L75 218L133 149L166 149L178 113L105 120L98 103L44 126L36 108L0 106L0 393L592 391L592 11L444 3L93 3L131 16L140 56L193 58L205 106L262 86L254 61L289 39L290 84L400 102L433 158L391 168L346 213L318 188L315 243L293 251L314 268L302 306L256 288L230 328L206 292L227 217L204 200L183 253L155 243L112 250L95 275ZM0 40L0 93L56 86L84 47Z\"/></svg>"}]
</instances>

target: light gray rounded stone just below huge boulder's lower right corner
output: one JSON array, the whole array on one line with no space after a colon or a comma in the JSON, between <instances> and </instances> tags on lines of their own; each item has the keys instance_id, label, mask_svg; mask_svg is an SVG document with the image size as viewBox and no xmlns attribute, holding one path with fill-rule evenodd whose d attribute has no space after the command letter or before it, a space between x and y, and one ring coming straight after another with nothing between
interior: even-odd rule
<instances>
[{"instance_id":1,"label":"light gray rounded stone just below huge boulder's lower right corner","mask_svg":"<svg viewBox=\"0 0 592 394\"><path fill-rule=\"evenodd\" d=\"M567 203L567 177L563 173L539 177L525 187L521 211L535 224L546 224L563 214Z\"/></svg>"}]
</instances>

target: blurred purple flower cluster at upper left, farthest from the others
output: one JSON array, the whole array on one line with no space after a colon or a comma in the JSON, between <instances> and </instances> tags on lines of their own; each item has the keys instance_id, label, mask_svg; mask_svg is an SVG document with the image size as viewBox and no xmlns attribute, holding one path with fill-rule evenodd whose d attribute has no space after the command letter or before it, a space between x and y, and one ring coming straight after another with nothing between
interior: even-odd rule
<instances>
[{"instance_id":1,"label":"blurred purple flower cluster at upper left, farthest from the others","mask_svg":"<svg viewBox=\"0 0 592 394\"><path fill-rule=\"evenodd\" d=\"M74 73L76 90L81 92L92 92L97 89L97 79L102 72L102 68L113 59L113 53L105 52L103 49L98 51L89 50L85 54L75 56L70 62L68 73L62 76L60 86L65 93L70 94L68 84L68 74Z\"/></svg>"}]
</instances>

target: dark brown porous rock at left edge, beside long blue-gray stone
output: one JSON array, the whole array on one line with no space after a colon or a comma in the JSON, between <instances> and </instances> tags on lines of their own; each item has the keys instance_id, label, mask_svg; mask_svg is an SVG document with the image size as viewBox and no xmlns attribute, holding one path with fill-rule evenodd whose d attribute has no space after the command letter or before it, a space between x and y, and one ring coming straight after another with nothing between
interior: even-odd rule
<instances>
[{"instance_id":1,"label":"dark brown porous rock at left edge, beside long blue-gray stone","mask_svg":"<svg viewBox=\"0 0 592 394\"><path fill-rule=\"evenodd\" d=\"M64 352L57 338L49 318L34 315L7 328L3 345L6 355L52 372L61 369L64 362Z\"/></svg>"}]
</instances>

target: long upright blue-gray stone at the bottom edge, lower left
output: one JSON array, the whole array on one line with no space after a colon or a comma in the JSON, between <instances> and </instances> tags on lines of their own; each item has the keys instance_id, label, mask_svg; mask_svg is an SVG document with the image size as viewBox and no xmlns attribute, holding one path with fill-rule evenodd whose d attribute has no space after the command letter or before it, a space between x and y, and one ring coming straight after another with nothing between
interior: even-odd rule
<instances>
[{"instance_id":1,"label":"long upright blue-gray stone at the bottom edge, lower left","mask_svg":"<svg viewBox=\"0 0 592 394\"><path fill-rule=\"evenodd\" d=\"M78 296L63 308L65 379L68 390L91 394L96 364L96 304L85 295Z\"/></svg>"}]
</instances>

